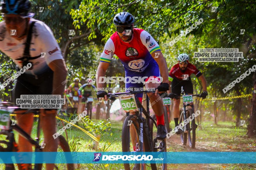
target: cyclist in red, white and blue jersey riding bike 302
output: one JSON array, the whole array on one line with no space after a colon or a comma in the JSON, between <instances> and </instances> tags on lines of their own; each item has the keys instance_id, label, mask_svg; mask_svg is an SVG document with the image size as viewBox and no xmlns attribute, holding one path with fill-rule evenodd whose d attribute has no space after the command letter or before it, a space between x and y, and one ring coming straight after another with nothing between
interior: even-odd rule
<instances>
[{"instance_id":1,"label":"cyclist in red, white and blue jersey riding bike 302","mask_svg":"<svg viewBox=\"0 0 256 170\"><path fill-rule=\"evenodd\" d=\"M116 54L125 67L125 76L146 76L145 82L148 81L148 83L145 83L145 87L156 88L155 94L147 94L150 97L150 102L158 101L158 92L166 92L169 89L168 67L158 43L145 30L134 28L134 17L129 12L116 14L113 23L117 32L108 39L100 57L97 69L97 88L105 87L104 83L99 83L99 77L105 76L111 59ZM159 81L151 81L159 77L160 74L163 78L162 84ZM125 87L141 88L143 83L126 83ZM107 100L106 94L105 91L98 91L97 97L105 97ZM142 96L143 94L137 95L140 101L142 101ZM159 100L152 105L152 109L157 117L157 138L164 139L166 138L166 129L163 118L163 101ZM130 112L130 114L135 113Z\"/></svg>"}]
</instances>

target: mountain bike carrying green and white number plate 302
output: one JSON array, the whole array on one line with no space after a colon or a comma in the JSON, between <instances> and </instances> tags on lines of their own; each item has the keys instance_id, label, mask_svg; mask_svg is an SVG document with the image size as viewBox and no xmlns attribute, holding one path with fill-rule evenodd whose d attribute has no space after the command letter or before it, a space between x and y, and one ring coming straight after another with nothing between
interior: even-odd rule
<instances>
[{"instance_id":1,"label":"mountain bike carrying green and white number plate 302","mask_svg":"<svg viewBox=\"0 0 256 170\"><path fill-rule=\"evenodd\" d=\"M154 91L137 91L109 93L108 98L115 100L119 97L122 109L127 112L122 127L122 151L123 152L166 152L166 139L157 139L156 116L150 116L149 97L146 97L147 109L142 106L136 93L154 93ZM135 115L129 115L130 111L135 111ZM146 118L142 117L142 114ZM134 133L130 133L133 131ZM164 155L164 159L166 155ZM143 170L151 167L152 170L167 170L167 164L162 162L156 164L124 164L125 170Z\"/></svg>"}]
</instances>

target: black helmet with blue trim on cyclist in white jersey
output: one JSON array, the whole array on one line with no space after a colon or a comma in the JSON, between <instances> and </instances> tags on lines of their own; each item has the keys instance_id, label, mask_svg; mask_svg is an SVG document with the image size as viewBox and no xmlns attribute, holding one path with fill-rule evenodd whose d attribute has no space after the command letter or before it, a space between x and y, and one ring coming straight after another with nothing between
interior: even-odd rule
<instances>
[{"instance_id":1,"label":"black helmet with blue trim on cyclist in white jersey","mask_svg":"<svg viewBox=\"0 0 256 170\"><path fill-rule=\"evenodd\" d=\"M3 0L1 13L18 14L22 17L33 17L34 14L29 13L31 2L29 0Z\"/></svg>"}]
</instances>

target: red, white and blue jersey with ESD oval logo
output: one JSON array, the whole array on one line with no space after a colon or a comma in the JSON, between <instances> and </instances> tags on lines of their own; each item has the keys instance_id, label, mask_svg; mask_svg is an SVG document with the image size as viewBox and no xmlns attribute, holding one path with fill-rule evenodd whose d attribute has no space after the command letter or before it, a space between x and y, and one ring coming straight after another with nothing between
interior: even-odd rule
<instances>
[{"instance_id":1,"label":"red, white and blue jersey with ESD oval logo","mask_svg":"<svg viewBox=\"0 0 256 170\"><path fill-rule=\"evenodd\" d=\"M145 30L134 28L130 42L124 42L115 32L106 42L100 61L110 63L113 54L121 60L125 71L143 72L150 65L157 64L151 54L160 47Z\"/></svg>"}]
</instances>

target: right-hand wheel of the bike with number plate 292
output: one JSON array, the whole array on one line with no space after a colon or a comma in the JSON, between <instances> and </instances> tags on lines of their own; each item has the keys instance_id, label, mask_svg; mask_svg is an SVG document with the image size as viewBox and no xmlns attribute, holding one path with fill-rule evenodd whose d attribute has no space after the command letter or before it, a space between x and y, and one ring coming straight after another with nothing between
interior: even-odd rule
<instances>
[{"instance_id":1,"label":"right-hand wheel of the bike with number plate 292","mask_svg":"<svg viewBox=\"0 0 256 170\"><path fill-rule=\"evenodd\" d=\"M189 118L189 116L191 116L192 118L192 113L193 110L192 109L188 109L187 111L187 118ZM191 149L195 148L195 118L193 118L193 120L191 120L191 122L188 123L188 140L189 140L189 147ZM191 138L192 137L192 138Z\"/></svg>"}]
</instances>

